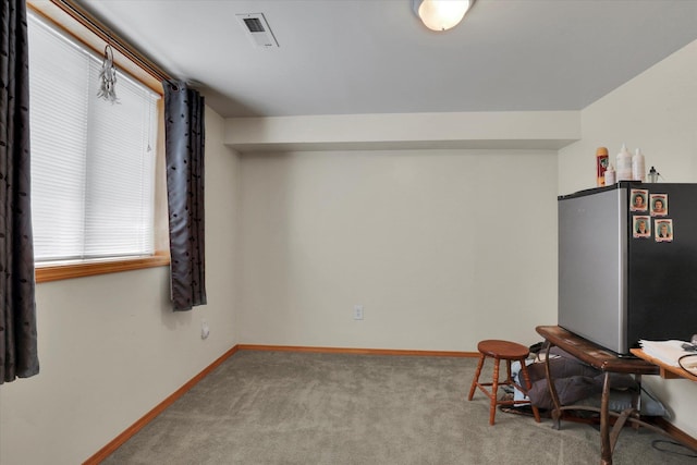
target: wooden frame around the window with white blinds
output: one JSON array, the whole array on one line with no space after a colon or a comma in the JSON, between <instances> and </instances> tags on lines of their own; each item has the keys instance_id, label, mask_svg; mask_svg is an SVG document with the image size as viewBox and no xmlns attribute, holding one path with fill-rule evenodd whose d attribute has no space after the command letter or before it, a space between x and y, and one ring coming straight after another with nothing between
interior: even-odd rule
<instances>
[{"instance_id":1,"label":"wooden frame around the window with white blinds","mask_svg":"<svg viewBox=\"0 0 697 465\"><path fill-rule=\"evenodd\" d=\"M52 26L68 34L75 40L91 49L98 56L103 53L107 41L83 25L71 15L63 7L50 1L27 0L30 13L37 14ZM114 62L119 72L129 74L155 93L163 97L161 82L144 68L114 48ZM82 278L96 274L106 274L120 271L138 270L145 268L163 267L170 265L169 253L169 227L167 216L167 179L164 167L164 124L163 98L158 103L158 136L156 144L155 161L155 253L151 256L138 256L117 259L95 259L66 262L35 262L35 280L37 283L58 281L72 278Z\"/></svg>"}]
</instances>

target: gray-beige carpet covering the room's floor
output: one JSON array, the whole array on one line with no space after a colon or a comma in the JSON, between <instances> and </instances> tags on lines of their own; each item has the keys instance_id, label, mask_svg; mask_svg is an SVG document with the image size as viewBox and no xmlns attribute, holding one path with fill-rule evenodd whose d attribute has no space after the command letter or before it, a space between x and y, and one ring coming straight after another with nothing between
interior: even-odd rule
<instances>
[{"instance_id":1,"label":"gray-beige carpet covering the room's floor","mask_svg":"<svg viewBox=\"0 0 697 465\"><path fill-rule=\"evenodd\" d=\"M600 462L589 425L554 430L499 411L489 426L488 399L466 400L475 368L474 358L241 351L103 463ZM665 438L625 428L614 463L697 463L653 449L655 439Z\"/></svg>"}]
</instances>

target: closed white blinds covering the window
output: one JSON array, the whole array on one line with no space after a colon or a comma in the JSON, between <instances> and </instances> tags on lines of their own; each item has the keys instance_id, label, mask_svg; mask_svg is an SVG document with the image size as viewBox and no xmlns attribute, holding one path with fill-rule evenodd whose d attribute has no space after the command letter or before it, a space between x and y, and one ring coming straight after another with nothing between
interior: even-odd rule
<instances>
[{"instance_id":1,"label":"closed white blinds covering the window","mask_svg":"<svg viewBox=\"0 0 697 465\"><path fill-rule=\"evenodd\" d=\"M35 260L151 255L160 96L118 73L98 98L102 57L28 16Z\"/></svg>"}]
</instances>

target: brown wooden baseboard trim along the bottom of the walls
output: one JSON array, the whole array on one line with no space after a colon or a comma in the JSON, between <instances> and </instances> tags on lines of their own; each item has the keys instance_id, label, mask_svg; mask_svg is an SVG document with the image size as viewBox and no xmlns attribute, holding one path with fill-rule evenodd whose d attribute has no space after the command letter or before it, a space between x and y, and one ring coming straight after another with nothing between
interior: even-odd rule
<instances>
[{"instance_id":1,"label":"brown wooden baseboard trim along the bottom of the walls","mask_svg":"<svg viewBox=\"0 0 697 465\"><path fill-rule=\"evenodd\" d=\"M145 414L140 419L126 428L121 435L117 436L107 445L101 448L96 454L83 462L83 465L98 465L109 455L111 455L119 446L135 436L147 424L155 419L159 414L164 412L167 407L172 405L179 397L184 395L198 381L208 376L220 364L225 362L239 351L268 351L268 352L301 352L301 353L323 353L323 354L355 354L355 355L403 355L403 356L425 356L425 357L461 357L476 358L479 357L478 352L455 352L455 351L406 351L392 348L355 348L355 347L316 347L303 345L261 345L261 344L236 344L228 352L218 357L212 364L204 368L198 375L189 379L184 386L170 394L167 399L155 406L150 412ZM685 431L677 428L664 418L656 418L653 420L658 426L663 428L670 436L677 439L682 443L697 450L697 439L693 438Z\"/></svg>"}]
</instances>

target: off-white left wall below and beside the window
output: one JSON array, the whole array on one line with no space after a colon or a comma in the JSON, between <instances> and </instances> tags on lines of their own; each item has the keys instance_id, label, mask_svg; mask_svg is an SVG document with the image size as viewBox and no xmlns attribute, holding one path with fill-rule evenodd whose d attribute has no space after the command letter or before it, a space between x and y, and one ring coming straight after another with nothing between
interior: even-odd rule
<instances>
[{"instance_id":1,"label":"off-white left wall below and beside the window","mask_svg":"<svg viewBox=\"0 0 697 465\"><path fill-rule=\"evenodd\" d=\"M82 463L235 345L237 158L206 120L208 305L172 313L167 267L38 284L41 371L0 389L0 463Z\"/></svg>"}]
</instances>

